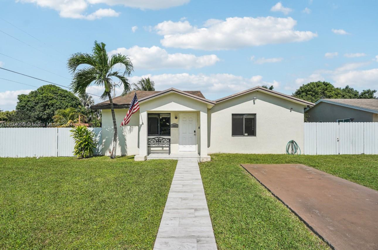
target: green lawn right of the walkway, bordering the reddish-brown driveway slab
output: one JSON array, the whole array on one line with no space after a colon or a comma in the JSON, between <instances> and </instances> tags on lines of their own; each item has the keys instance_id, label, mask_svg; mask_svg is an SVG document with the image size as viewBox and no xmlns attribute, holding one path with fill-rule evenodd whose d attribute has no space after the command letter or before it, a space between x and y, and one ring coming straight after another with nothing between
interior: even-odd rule
<instances>
[{"instance_id":1,"label":"green lawn right of the walkway, bordering the reddish-brown driveway slab","mask_svg":"<svg viewBox=\"0 0 378 250\"><path fill-rule=\"evenodd\" d=\"M378 190L374 155L214 154L211 160L200 171L220 250L328 248L240 164L301 163Z\"/></svg>"}]
</instances>

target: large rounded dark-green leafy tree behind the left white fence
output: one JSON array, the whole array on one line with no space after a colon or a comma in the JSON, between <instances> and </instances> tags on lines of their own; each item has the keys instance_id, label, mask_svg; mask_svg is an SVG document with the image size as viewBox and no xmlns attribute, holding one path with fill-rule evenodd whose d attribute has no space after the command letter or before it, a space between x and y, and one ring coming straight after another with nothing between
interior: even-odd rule
<instances>
[{"instance_id":1,"label":"large rounded dark-green leafy tree behind the left white fence","mask_svg":"<svg viewBox=\"0 0 378 250\"><path fill-rule=\"evenodd\" d=\"M81 110L82 104L73 93L56 85L43 85L29 94L19 95L15 121L49 123L59 109L73 107Z\"/></svg>"}]
</instances>

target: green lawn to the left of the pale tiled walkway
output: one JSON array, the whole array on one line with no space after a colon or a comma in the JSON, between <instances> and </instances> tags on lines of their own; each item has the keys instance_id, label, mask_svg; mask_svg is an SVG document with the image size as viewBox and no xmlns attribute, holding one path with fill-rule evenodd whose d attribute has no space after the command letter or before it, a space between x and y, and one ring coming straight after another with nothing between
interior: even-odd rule
<instances>
[{"instance_id":1,"label":"green lawn to the left of the pale tiled walkway","mask_svg":"<svg viewBox=\"0 0 378 250\"><path fill-rule=\"evenodd\" d=\"M0 158L0 248L152 249L176 162Z\"/></svg>"}]
</instances>

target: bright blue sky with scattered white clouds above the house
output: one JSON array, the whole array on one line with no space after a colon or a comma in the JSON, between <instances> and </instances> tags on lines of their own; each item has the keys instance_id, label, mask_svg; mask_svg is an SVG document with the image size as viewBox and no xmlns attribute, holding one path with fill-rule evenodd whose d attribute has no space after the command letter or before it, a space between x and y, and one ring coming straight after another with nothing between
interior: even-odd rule
<instances>
[{"instance_id":1,"label":"bright blue sky with scattered white clouds above the house","mask_svg":"<svg viewBox=\"0 0 378 250\"><path fill-rule=\"evenodd\" d=\"M130 82L150 76L156 90L217 99L263 84L291 94L318 80L378 89L377 7L374 0L3 0L0 65L68 86L68 56L98 40L133 59ZM5 70L0 78L45 84ZM0 109L14 109L17 95L36 87L0 79Z\"/></svg>"}]
</instances>

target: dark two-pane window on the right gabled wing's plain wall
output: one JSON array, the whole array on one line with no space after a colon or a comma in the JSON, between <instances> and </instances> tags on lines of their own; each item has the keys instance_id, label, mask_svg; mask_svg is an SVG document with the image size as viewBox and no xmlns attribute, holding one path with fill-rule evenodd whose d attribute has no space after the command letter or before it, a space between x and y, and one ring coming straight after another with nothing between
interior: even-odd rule
<instances>
[{"instance_id":1,"label":"dark two-pane window on the right gabled wing's plain wall","mask_svg":"<svg viewBox=\"0 0 378 250\"><path fill-rule=\"evenodd\" d=\"M256 136L256 115L232 114L232 136Z\"/></svg>"}]
</instances>

